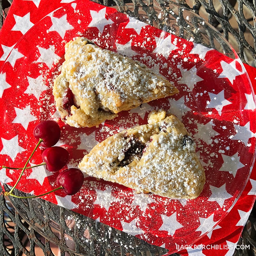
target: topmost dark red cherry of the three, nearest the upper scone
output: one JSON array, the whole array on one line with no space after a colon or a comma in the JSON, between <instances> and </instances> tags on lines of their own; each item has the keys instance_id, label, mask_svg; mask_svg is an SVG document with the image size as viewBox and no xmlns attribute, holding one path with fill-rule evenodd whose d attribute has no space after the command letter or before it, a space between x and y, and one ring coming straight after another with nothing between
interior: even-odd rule
<instances>
[{"instance_id":1,"label":"topmost dark red cherry of the three, nearest the upper scone","mask_svg":"<svg viewBox=\"0 0 256 256\"><path fill-rule=\"evenodd\" d=\"M41 145L44 148L49 148L60 139L60 126L55 121L46 120L37 124L33 133L37 140L43 140Z\"/></svg>"}]
</instances>

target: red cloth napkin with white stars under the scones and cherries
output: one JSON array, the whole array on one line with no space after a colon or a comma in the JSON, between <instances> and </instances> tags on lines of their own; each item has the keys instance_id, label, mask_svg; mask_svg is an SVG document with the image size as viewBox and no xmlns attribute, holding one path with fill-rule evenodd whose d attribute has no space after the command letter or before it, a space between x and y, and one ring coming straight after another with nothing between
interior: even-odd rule
<instances>
[{"instance_id":1,"label":"red cloth napkin with white stars under the scones and cherries","mask_svg":"<svg viewBox=\"0 0 256 256\"><path fill-rule=\"evenodd\" d=\"M118 129L145 123L148 113L161 107L176 114L197 141L207 181L195 200L136 194L91 177L74 196L56 192L44 199L170 253L213 255L217 250L219 255L232 255L256 191L255 100L250 84L251 80L256 88L255 69L244 68L236 55L231 60L88 0L14 0L0 31L2 164L22 165L35 145L31 136L35 125L47 118L59 120L52 77L61 64L65 42L76 36L146 63L172 80L180 93L125 111L96 128L75 129L60 121L58 145L68 148L68 167L76 166ZM29 165L41 161L38 152ZM2 184L13 186L18 176L10 169L0 171ZM56 186L56 176L36 167L24 173L17 188L39 195Z\"/></svg>"}]
</instances>

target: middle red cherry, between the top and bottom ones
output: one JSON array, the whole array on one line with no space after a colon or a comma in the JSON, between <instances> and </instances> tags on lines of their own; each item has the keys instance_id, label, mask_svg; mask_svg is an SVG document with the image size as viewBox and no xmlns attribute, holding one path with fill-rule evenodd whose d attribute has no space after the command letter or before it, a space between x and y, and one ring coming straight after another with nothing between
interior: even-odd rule
<instances>
[{"instance_id":1,"label":"middle red cherry, between the top and bottom ones","mask_svg":"<svg viewBox=\"0 0 256 256\"><path fill-rule=\"evenodd\" d=\"M46 148L42 153L42 158L48 171L58 172L68 163L69 154L67 149L55 146Z\"/></svg>"}]
</instances>

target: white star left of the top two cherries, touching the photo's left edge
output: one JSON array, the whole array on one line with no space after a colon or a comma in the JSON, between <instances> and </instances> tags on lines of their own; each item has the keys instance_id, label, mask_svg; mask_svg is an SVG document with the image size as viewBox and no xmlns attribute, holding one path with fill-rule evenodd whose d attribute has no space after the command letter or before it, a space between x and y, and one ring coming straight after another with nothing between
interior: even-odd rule
<instances>
[{"instance_id":1,"label":"white star left of the top two cherries, touching the photo's left edge","mask_svg":"<svg viewBox=\"0 0 256 256\"><path fill-rule=\"evenodd\" d=\"M19 146L19 138L18 135L14 136L10 140L5 140L2 138L3 148L0 152L2 155L8 155L11 157L12 162L14 162L18 153L25 151L25 148Z\"/></svg>"}]
</instances>

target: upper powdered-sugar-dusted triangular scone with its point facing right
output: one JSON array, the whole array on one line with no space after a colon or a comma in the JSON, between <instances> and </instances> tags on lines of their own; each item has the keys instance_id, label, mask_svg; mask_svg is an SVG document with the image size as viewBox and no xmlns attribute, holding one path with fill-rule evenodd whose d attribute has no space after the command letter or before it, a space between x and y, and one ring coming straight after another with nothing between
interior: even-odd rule
<instances>
[{"instance_id":1,"label":"upper powdered-sugar-dusted triangular scone with its point facing right","mask_svg":"<svg viewBox=\"0 0 256 256\"><path fill-rule=\"evenodd\" d=\"M53 95L61 118L75 127L92 127L122 110L178 93L147 68L78 37L65 45L65 61Z\"/></svg>"}]
</instances>

